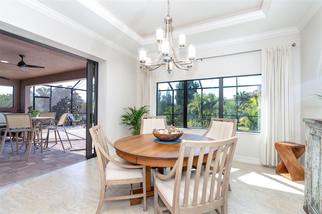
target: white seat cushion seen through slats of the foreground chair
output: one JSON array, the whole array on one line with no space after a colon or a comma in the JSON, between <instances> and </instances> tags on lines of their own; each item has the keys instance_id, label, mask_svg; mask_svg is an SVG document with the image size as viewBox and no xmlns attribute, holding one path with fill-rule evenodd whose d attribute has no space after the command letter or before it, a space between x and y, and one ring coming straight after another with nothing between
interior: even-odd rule
<instances>
[{"instance_id":1,"label":"white seat cushion seen through slats of the foreground chair","mask_svg":"<svg viewBox=\"0 0 322 214\"><path fill-rule=\"evenodd\" d=\"M190 187L189 187L188 205L192 205L192 203L193 203L193 190L194 190L195 176L196 176L196 173L195 173L195 170L193 170L191 173L191 178L190 178L191 181L190 181ZM208 179L206 201L209 200L210 179L211 179L211 175L209 176L209 179ZM179 206L183 205L184 191L185 191L185 180L186 180L186 172L182 172ZM175 186L175 176L173 176L172 178L167 179L167 180L160 180L160 179L156 178L155 185L159 189L159 192L166 198L168 203L172 206L173 192L174 192L174 186ZM200 181L199 181L197 203L201 203L202 185L203 185L203 178L201 177ZM215 181L215 185L217 185L216 181ZM215 194L216 194L216 188L214 189L214 198L215 198Z\"/></svg>"}]
</instances>

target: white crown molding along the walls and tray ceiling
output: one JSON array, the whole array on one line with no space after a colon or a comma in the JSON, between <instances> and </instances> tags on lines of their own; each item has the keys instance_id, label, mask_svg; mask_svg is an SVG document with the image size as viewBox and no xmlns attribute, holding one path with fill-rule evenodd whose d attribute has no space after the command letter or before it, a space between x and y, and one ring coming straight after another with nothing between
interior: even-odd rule
<instances>
[{"instance_id":1,"label":"white crown molding along the walls and tray ceiling","mask_svg":"<svg viewBox=\"0 0 322 214\"><path fill-rule=\"evenodd\" d=\"M52 19L55 19L55 20L65 24L65 25L85 34L85 35L88 35L91 38L94 38L95 40L102 42L103 44L106 44L107 46L109 46L109 47L131 57L131 58L137 59L137 54L133 54L132 52L128 51L127 49L115 44L114 42L112 42L110 40L107 40L106 38L85 28L84 26L81 26L81 25L73 22L72 20L70 20L70 19L62 16L61 14L47 8L46 6L40 4L37 1L34 1L34 0L33 1L18 0L18 1L24 5L27 5L30 8L33 8L34 10L36 10L48 17L51 17ZM77 1L79 3L81 3L82 5L84 5L85 7L92 10L93 12L99 14L99 16L104 18L109 23L112 22L113 24L112 23L111 24L113 26L117 27L119 30L126 33L127 35L129 35L130 37L132 37L134 40L141 43L142 45L155 43L154 36L148 37L146 39L142 39L140 36L138 36L133 31L131 31L129 28L127 28L123 23L118 21L115 17L108 14L106 11L102 10L101 8L97 7L97 4L91 5L83 0L77 0ZM315 2L319 2L319 1L315 1ZM269 7L270 7L270 3L271 3L271 1L263 1L262 10L259 10L259 11L230 17L227 19L214 21L214 22L210 22L207 24L203 24L203 25L199 25L199 26L195 26L195 27L191 27L191 28L186 28L184 30L180 30L180 32L184 31L187 35L197 34L197 33L206 32L206 31L210 31L210 30L214 30L214 29L218 29L218 28L224 28L224 27L231 26L231 25L236 25L236 24L240 24L240 23L263 19L266 17L266 14L267 14ZM91 5L91 6L89 6L89 5ZM320 3L319 3L319 5L320 5ZM312 7L310 8L310 10L316 12L318 8L314 9L314 7L316 7L316 4L312 4ZM309 18L311 18L311 17L309 17ZM304 18L303 18L303 20L304 20ZM119 24L119 26L118 26L118 24ZM203 50L203 49L209 49L209 48L225 46L225 45L232 45L232 44L237 44L237 43L242 43L242 42L255 41L255 40L266 39L266 38L277 37L277 36L284 36L284 35L289 35L289 34L294 34L294 33L299 33L299 30L296 27L291 27L291 28L280 29L280 30L275 30L275 31L270 31L270 32L265 32L265 33L260 33L260 34L253 34L253 35L248 35L248 36L244 36L244 37L237 37L237 38L232 38L232 39L227 39L227 40L206 43L206 44L202 44L202 45L197 45L196 48L198 48L199 50ZM179 31L174 31L173 32L174 38L176 38L178 34L179 34Z\"/></svg>"}]
</instances>

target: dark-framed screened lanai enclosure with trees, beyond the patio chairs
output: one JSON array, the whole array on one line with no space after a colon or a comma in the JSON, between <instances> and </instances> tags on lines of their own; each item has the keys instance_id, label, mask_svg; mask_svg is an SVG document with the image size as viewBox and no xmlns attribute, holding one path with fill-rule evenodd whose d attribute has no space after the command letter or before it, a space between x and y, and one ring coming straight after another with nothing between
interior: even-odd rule
<instances>
[{"instance_id":1,"label":"dark-framed screened lanai enclosure with trees, beyond the patio chairs","mask_svg":"<svg viewBox=\"0 0 322 214\"><path fill-rule=\"evenodd\" d=\"M70 113L76 121L86 120L86 79L38 85L30 88L30 105L39 112L55 112L56 118Z\"/></svg>"}]
</instances>

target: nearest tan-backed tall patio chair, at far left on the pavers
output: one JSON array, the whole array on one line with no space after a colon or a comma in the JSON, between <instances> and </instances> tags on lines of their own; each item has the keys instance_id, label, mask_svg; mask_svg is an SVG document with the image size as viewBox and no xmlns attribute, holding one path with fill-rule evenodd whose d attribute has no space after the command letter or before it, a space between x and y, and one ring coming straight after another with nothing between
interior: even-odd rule
<instances>
[{"instance_id":1,"label":"nearest tan-backed tall patio chair, at far left on the pavers","mask_svg":"<svg viewBox=\"0 0 322 214\"><path fill-rule=\"evenodd\" d=\"M23 146L26 145L25 152L23 155L27 153L27 159L26 162L29 161L30 153L31 153L31 147L32 144L36 144L39 142L41 146L41 152L42 152L42 141L39 141L39 139L35 138L35 132L38 131L38 123L40 122L35 122L33 123L31 120L30 114L5 114L5 119L6 119L6 131L4 136L7 136L7 133L9 133L10 137L10 143L13 146L13 136L16 138L16 147L17 147L17 155L19 155L19 149ZM19 142L19 133L23 133L23 141L20 143ZM2 141L1 145L1 151L0 155L2 154L4 147L4 139ZM13 149L13 148L12 148ZM23 159L24 160L24 159Z\"/></svg>"}]
</instances>

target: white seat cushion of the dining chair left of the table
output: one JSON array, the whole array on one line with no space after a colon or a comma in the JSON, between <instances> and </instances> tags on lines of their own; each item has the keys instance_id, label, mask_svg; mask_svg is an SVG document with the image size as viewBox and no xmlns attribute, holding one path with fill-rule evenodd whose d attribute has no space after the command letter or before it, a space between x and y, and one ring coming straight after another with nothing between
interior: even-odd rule
<instances>
[{"instance_id":1,"label":"white seat cushion of the dining chair left of the table","mask_svg":"<svg viewBox=\"0 0 322 214\"><path fill-rule=\"evenodd\" d=\"M112 172L112 173L110 173ZM142 178L142 169L127 169L119 167L111 161L105 167L106 180L121 180L121 179L134 179Z\"/></svg>"}]
</instances>

